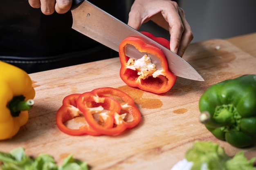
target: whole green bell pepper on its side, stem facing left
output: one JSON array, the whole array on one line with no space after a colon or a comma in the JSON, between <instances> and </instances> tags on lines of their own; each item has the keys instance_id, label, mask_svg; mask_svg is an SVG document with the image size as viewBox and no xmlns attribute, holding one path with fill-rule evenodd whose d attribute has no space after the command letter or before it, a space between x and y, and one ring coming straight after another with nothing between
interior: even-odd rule
<instances>
[{"instance_id":1,"label":"whole green bell pepper on its side, stem facing left","mask_svg":"<svg viewBox=\"0 0 256 170\"><path fill-rule=\"evenodd\" d=\"M256 75L210 86L199 100L200 121L218 139L237 148L256 143Z\"/></svg>"}]
</instances>

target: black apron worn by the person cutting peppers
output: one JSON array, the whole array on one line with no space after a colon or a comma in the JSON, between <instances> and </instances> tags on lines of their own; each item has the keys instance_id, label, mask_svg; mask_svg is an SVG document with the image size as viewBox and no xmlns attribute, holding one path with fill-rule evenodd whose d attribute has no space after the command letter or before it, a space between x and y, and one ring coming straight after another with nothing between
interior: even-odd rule
<instances>
[{"instance_id":1,"label":"black apron worn by the person cutting peppers","mask_svg":"<svg viewBox=\"0 0 256 170\"><path fill-rule=\"evenodd\" d=\"M126 0L89 0L127 22ZM27 0L2 0L0 60L27 73L118 57L118 53L73 30L71 12L44 15Z\"/></svg>"}]
</instances>

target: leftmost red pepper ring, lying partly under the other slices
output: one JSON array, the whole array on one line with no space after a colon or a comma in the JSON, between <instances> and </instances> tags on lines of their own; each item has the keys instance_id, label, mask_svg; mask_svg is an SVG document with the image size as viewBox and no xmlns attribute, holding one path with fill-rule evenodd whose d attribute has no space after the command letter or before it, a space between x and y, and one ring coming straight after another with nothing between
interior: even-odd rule
<instances>
[{"instance_id":1,"label":"leftmost red pepper ring, lying partly under the other slices","mask_svg":"<svg viewBox=\"0 0 256 170\"><path fill-rule=\"evenodd\" d=\"M76 101L78 97L81 94L72 94L68 95L63 99L63 105L58 109L56 113L56 124L58 128L68 134L68 135L92 135L92 136L99 136L102 135L100 132L97 132L94 130L89 124L88 126L80 126L79 129L71 129L65 126L65 122L71 119L74 119L74 117L79 116L79 109L76 106ZM108 97L106 97L105 101L109 100ZM80 113L82 114L82 113ZM104 122L104 127L111 128L113 126L114 120L112 118L108 118Z\"/></svg>"}]
</instances>

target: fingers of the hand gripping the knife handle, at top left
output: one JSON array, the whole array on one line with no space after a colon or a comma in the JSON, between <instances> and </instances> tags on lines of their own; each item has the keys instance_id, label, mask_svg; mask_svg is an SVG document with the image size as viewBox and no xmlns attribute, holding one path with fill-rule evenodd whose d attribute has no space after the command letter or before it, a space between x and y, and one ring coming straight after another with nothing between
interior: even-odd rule
<instances>
[{"instance_id":1,"label":"fingers of the hand gripping the knife handle, at top left","mask_svg":"<svg viewBox=\"0 0 256 170\"><path fill-rule=\"evenodd\" d=\"M33 8L41 8L42 13L51 15L57 13L66 13L70 10L72 0L28 0Z\"/></svg>"}]
</instances>

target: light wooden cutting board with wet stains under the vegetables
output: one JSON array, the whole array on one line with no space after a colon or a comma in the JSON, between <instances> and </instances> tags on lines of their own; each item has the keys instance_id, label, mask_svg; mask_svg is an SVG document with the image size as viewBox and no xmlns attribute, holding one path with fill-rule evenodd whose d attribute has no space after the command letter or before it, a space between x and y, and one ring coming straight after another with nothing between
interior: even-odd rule
<instances>
[{"instance_id":1,"label":"light wooden cutting board with wet stains under the vegetables","mask_svg":"<svg viewBox=\"0 0 256 170\"><path fill-rule=\"evenodd\" d=\"M58 163L73 154L91 170L170 170L184 158L195 140L213 141L233 156L243 150L248 159L256 147L239 149L213 137L198 121L198 100L212 84L245 74L256 74L256 58L225 40L191 44L184 57L205 79L178 77L173 88L156 95L127 86L119 77L119 58L30 74L36 90L29 121L12 139L0 141L0 150L24 147L26 154L49 153ZM124 134L69 136L58 130L55 114L65 96L99 87L118 88L133 97L142 119Z\"/></svg>"}]
</instances>

